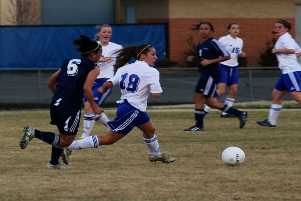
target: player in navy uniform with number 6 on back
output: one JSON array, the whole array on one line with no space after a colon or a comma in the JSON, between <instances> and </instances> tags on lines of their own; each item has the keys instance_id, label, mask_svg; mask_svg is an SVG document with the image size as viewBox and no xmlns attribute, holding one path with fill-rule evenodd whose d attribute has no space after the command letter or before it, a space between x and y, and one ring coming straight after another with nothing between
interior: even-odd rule
<instances>
[{"instance_id":1,"label":"player in navy uniform with number 6 on back","mask_svg":"<svg viewBox=\"0 0 301 201\"><path fill-rule=\"evenodd\" d=\"M47 82L54 93L50 104L50 124L57 126L59 135L27 126L20 140L21 149L25 149L34 138L52 145L51 160L47 163L46 169L69 168L60 164L59 158L64 147L73 142L78 131L84 93L93 112L95 114L103 112L94 102L92 92L93 82L100 71L95 62L100 59L101 45L84 35L73 42L78 46L77 50L82 58L63 61L61 69L56 71Z\"/></svg>"}]
</instances>

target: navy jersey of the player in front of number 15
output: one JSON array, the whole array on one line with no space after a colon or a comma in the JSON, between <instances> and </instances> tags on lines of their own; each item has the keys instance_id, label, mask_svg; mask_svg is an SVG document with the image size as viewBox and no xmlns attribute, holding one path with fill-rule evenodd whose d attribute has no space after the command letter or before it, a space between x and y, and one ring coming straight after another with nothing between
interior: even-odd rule
<instances>
[{"instance_id":1,"label":"navy jersey of the player in front of number 15","mask_svg":"<svg viewBox=\"0 0 301 201\"><path fill-rule=\"evenodd\" d=\"M200 59L200 63L203 59L217 59L219 57L230 56L229 53L223 48L223 46L214 38L209 38L205 42L201 42L197 49L197 55ZM199 65L199 72L207 74L220 74L219 63L212 63L207 66Z\"/></svg>"}]
</instances>

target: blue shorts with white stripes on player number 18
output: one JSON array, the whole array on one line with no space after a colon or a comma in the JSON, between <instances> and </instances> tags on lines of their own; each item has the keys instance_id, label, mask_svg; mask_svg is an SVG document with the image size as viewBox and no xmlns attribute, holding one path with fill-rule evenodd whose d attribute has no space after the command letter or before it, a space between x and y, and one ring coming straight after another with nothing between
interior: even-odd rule
<instances>
[{"instance_id":1,"label":"blue shorts with white stripes on player number 18","mask_svg":"<svg viewBox=\"0 0 301 201\"><path fill-rule=\"evenodd\" d=\"M141 112L131 106L127 100L123 100L117 106L116 117L107 124L115 132L122 135L128 134L135 126L149 122L146 112Z\"/></svg>"}]
</instances>

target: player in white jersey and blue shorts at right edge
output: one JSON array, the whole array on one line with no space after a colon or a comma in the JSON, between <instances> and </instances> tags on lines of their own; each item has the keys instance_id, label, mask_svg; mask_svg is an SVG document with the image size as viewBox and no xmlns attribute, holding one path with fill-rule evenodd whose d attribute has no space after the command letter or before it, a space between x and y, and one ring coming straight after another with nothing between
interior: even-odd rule
<instances>
[{"instance_id":1,"label":"player in white jersey and blue shorts at right edge","mask_svg":"<svg viewBox=\"0 0 301 201\"><path fill-rule=\"evenodd\" d=\"M271 94L273 100L268 119L257 122L261 126L276 127L277 118L282 108L282 97L287 92L290 93L292 99L301 103L301 66L297 62L297 56L300 56L300 47L288 33L290 29L290 23L285 20L278 20L274 25L274 33L279 38L272 49L272 53L277 56L278 67L282 74Z\"/></svg>"}]
</instances>

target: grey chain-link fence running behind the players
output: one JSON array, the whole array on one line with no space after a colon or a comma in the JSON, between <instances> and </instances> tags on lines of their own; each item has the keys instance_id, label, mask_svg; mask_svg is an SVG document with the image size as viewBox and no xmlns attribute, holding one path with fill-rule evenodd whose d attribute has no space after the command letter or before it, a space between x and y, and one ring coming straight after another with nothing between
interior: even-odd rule
<instances>
[{"instance_id":1,"label":"grey chain-link fence running behind the players","mask_svg":"<svg viewBox=\"0 0 301 201\"><path fill-rule=\"evenodd\" d=\"M194 88L200 76L193 68L159 69L163 93L159 99L149 97L149 105L193 104ZM0 104L47 104L52 92L46 83L55 70L7 70L0 72ZM236 102L271 100L270 93L281 71L277 67L239 69ZM228 91L226 91L227 94ZM226 95L221 97L224 100ZM105 105L115 106L120 91L113 88ZM284 99L291 99L285 95Z\"/></svg>"}]
</instances>

